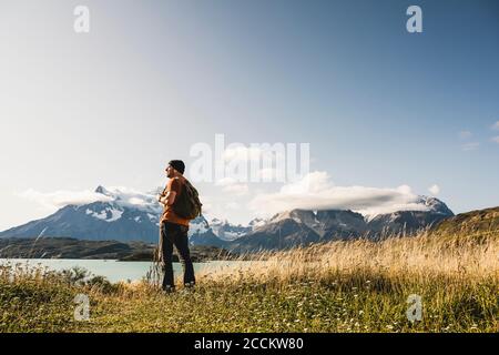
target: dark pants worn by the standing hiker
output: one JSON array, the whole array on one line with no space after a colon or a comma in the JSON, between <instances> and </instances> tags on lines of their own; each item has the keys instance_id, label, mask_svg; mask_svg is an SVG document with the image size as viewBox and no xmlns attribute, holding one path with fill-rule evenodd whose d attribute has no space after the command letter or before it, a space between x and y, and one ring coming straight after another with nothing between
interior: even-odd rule
<instances>
[{"instance_id":1,"label":"dark pants worn by the standing hiker","mask_svg":"<svg viewBox=\"0 0 499 355\"><path fill-rule=\"evenodd\" d=\"M163 222L160 227L162 266L164 272L163 290L171 290L175 287L173 280L172 254L173 245L179 252L179 258L184 268L184 285L194 285L194 267L191 261L191 253L189 252L189 229L184 225Z\"/></svg>"}]
</instances>

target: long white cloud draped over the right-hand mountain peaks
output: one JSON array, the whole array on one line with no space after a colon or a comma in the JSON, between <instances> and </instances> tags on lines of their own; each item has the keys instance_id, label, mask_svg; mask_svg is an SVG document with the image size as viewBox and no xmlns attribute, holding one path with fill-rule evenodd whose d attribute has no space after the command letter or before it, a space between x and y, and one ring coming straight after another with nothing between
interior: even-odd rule
<instances>
[{"instance_id":1,"label":"long white cloud draped over the right-hand mountain peaks","mask_svg":"<svg viewBox=\"0 0 499 355\"><path fill-rule=\"evenodd\" d=\"M364 215L428 209L410 186L336 186L326 172L319 171L307 174L296 183L284 185L276 193L261 193L248 206L256 214L265 216L292 209L353 210Z\"/></svg>"}]
</instances>

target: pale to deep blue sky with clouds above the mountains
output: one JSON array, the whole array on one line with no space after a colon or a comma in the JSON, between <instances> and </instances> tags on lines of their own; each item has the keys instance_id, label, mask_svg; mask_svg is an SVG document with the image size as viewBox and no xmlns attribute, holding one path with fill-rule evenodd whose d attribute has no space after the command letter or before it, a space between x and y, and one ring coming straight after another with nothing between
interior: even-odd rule
<instances>
[{"instance_id":1,"label":"pale to deep blue sky with clouds above the mountains","mask_svg":"<svg viewBox=\"0 0 499 355\"><path fill-rule=\"evenodd\" d=\"M192 179L235 223L420 194L455 213L499 205L498 63L493 0L2 1L0 230L98 185L152 191L171 159L191 179L193 146L216 134L243 153L309 144L298 181Z\"/></svg>"}]
</instances>

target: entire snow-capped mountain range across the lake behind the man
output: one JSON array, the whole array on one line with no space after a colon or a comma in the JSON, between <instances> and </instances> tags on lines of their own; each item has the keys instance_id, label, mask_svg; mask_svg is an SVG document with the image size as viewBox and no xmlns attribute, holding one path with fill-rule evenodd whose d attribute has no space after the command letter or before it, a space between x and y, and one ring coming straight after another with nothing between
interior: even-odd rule
<instances>
[{"instance_id":1,"label":"entire snow-capped mountain range across the lake behind the man","mask_svg":"<svg viewBox=\"0 0 499 355\"><path fill-rule=\"evenodd\" d=\"M98 186L95 193L98 201L63 206L44 219L0 232L0 237L157 242L162 206L155 192L139 193ZM248 225L198 216L191 221L189 237L192 245L217 246L241 253L282 250L330 240L410 234L454 216L452 211L438 199L419 196L417 204L419 211L375 216L364 216L349 210L291 210L268 220L255 219Z\"/></svg>"}]
</instances>

